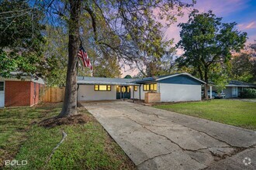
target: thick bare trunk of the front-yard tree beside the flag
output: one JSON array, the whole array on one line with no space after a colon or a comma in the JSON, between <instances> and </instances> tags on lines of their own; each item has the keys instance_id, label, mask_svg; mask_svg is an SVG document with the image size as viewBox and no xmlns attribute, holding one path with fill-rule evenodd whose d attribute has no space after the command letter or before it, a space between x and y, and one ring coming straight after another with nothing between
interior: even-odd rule
<instances>
[{"instance_id":1,"label":"thick bare trunk of the front-yard tree beside the flag","mask_svg":"<svg viewBox=\"0 0 256 170\"><path fill-rule=\"evenodd\" d=\"M79 47L79 16L81 0L69 0L70 19L68 23L68 64L64 104L59 117L77 114L77 72L76 63Z\"/></svg>"}]
</instances>

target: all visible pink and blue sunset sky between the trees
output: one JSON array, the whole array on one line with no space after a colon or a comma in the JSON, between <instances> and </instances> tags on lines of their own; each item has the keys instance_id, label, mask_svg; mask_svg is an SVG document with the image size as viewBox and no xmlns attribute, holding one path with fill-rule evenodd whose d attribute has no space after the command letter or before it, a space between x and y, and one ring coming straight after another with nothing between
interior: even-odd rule
<instances>
[{"instance_id":1,"label":"all visible pink and blue sunset sky between the trees","mask_svg":"<svg viewBox=\"0 0 256 170\"><path fill-rule=\"evenodd\" d=\"M217 17L223 18L222 22L237 22L237 29L247 32L247 43L252 43L256 39L256 0L197 0L194 8L198 9L199 12L207 12L211 9ZM179 18L178 22L171 25L165 32L167 38L175 39L175 43L180 39L180 29L177 25L180 22L187 22L189 19L188 14L191 11L185 9L184 12L185 15ZM182 51L178 50L178 55L180 54L182 54ZM127 74L133 76L137 74L137 70L122 70L122 73L122 76Z\"/></svg>"}]
</instances>

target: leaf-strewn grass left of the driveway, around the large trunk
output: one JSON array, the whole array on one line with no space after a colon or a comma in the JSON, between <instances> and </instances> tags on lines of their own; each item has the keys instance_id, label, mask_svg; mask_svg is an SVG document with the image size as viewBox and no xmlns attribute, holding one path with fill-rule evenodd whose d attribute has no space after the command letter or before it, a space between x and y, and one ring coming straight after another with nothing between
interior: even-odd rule
<instances>
[{"instance_id":1,"label":"leaf-strewn grass left of the driveway, around the large trunk","mask_svg":"<svg viewBox=\"0 0 256 170\"><path fill-rule=\"evenodd\" d=\"M54 117L61 104L39 107L20 107L0 110L0 168L4 160L26 160L19 169L134 169L135 165L109 137L99 122L87 110L80 114L90 117L87 124L61 125L43 128L37 122ZM61 141L62 131L67 138L46 164L53 148ZM5 166L5 169L13 166Z\"/></svg>"}]
</instances>

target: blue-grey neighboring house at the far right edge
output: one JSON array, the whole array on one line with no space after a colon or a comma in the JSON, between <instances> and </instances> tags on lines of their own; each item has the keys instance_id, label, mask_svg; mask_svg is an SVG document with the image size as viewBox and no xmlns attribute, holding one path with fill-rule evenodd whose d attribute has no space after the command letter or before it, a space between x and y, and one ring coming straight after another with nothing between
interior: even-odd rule
<instances>
[{"instance_id":1,"label":"blue-grey neighboring house at the far right edge","mask_svg":"<svg viewBox=\"0 0 256 170\"><path fill-rule=\"evenodd\" d=\"M256 85L253 83L244 83L242 81L230 80L226 85L226 88L223 90L223 93L226 94L225 98L240 97L240 92L245 88L256 88Z\"/></svg>"}]
</instances>

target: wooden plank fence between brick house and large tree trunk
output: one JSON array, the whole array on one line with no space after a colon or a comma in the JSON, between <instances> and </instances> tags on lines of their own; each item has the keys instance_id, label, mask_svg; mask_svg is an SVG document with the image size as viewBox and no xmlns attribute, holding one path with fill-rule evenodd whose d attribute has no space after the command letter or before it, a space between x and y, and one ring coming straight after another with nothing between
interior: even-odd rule
<instances>
[{"instance_id":1,"label":"wooden plank fence between brick house and large tree trunk","mask_svg":"<svg viewBox=\"0 0 256 170\"><path fill-rule=\"evenodd\" d=\"M45 87L42 95L43 102L61 102L64 100L65 87Z\"/></svg>"}]
</instances>

